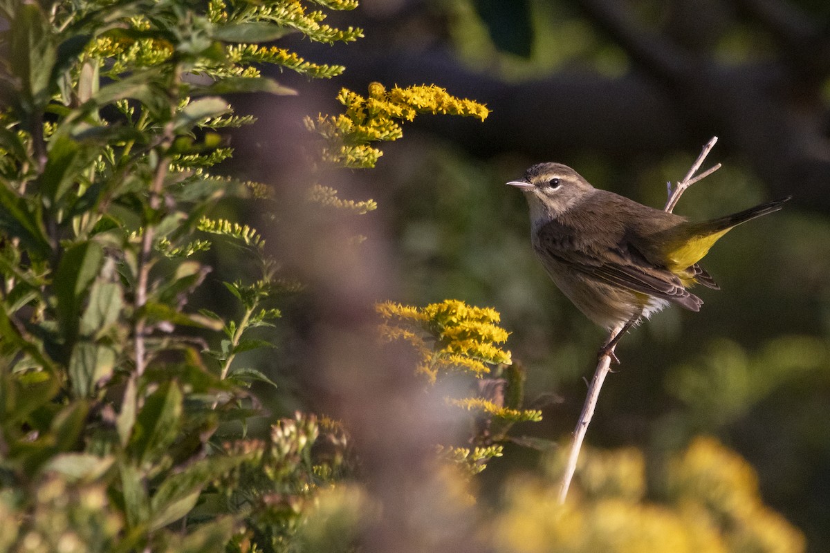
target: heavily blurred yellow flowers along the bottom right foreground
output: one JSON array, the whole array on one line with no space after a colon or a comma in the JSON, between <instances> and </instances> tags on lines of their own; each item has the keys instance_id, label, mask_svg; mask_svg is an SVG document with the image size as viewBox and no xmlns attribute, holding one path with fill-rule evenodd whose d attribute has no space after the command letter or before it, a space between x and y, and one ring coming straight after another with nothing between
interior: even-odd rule
<instances>
[{"instance_id":1,"label":"heavily blurred yellow flowers along the bottom right foreground","mask_svg":"<svg viewBox=\"0 0 830 553\"><path fill-rule=\"evenodd\" d=\"M637 449L584 450L578 488L558 502L559 474L516 479L493 529L497 551L543 553L803 553L801 532L765 507L749 463L699 438L650 479Z\"/></svg>"}]
</instances>

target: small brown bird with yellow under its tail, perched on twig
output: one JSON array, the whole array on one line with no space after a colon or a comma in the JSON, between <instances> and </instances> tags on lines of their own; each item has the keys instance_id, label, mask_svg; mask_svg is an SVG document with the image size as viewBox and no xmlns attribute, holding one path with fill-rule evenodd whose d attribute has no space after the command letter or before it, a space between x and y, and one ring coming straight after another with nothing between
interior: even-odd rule
<instances>
[{"instance_id":1,"label":"small brown bird with yellow under its tail, perched on twig","mask_svg":"<svg viewBox=\"0 0 830 553\"><path fill-rule=\"evenodd\" d=\"M539 163L507 182L530 206L531 242L554 284L588 319L608 330L599 356L643 319L673 304L700 311L689 289L720 289L700 260L735 226L779 211L791 196L745 211L689 221L594 188L561 163Z\"/></svg>"}]
</instances>

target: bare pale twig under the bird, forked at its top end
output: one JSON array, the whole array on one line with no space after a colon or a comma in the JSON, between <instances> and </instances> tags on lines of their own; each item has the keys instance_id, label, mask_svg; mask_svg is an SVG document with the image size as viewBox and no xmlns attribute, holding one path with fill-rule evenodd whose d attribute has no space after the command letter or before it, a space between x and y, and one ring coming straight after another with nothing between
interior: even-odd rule
<instances>
[{"instance_id":1,"label":"bare pale twig under the bird, forked at its top end","mask_svg":"<svg viewBox=\"0 0 830 553\"><path fill-rule=\"evenodd\" d=\"M712 137L708 143L706 143L706 146L704 146L701 151L701 155L699 155L695 163L692 164L691 169L689 169L689 172L686 173L686 177L683 177L681 182L677 182L674 190L671 189L671 182L668 183L669 197L663 211L671 213L677 205L677 201L680 200L680 196L683 192L686 192L686 188L691 187L691 185L695 182L700 181L702 178L708 177L710 174L720 169L720 163L718 163L715 166L706 169L706 171L701 172L700 175L695 176L695 173L701 168L703 161L706 159L706 156L709 155L711 149L715 147L715 143L717 141L718 138L715 136ZM617 337L618 332L621 332L622 330L623 327L614 327L608 336L607 343L612 343L614 338ZM568 463L565 465L565 473L562 477L562 487L559 488L560 504L564 503L565 498L568 497L568 489L570 488L571 480L574 478L576 463L579 460L579 450L582 449L583 439L585 439L585 434L588 432L588 424L591 424L593 410L597 407L599 390L602 389L603 381L605 381L605 377L608 376L608 372L611 371L611 358L614 354L614 347L616 346L611 347L610 350L603 355L603 357L599 358L597 370L594 371L591 384L588 386L588 396L585 398L585 405L583 405L582 414L579 415L579 421L576 424L576 429L574 429L574 442L571 444L571 449L568 454Z\"/></svg>"}]
</instances>

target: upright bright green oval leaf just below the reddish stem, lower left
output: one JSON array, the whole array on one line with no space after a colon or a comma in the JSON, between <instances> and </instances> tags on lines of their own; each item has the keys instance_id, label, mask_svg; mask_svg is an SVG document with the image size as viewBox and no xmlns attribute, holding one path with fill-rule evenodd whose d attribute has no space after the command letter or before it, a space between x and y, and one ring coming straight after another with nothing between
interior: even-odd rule
<instances>
[{"instance_id":1,"label":"upright bright green oval leaf just below the reddish stem, lower left","mask_svg":"<svg viewBox=\"0 0 830 553\"><path fill-rule=\"evenodd\" d=\"M182 417L182 390L176 382L164 382L144 400L135 418L128 449L141 463L161 457L178 434Z\"/></svg>"}]
</instances>

